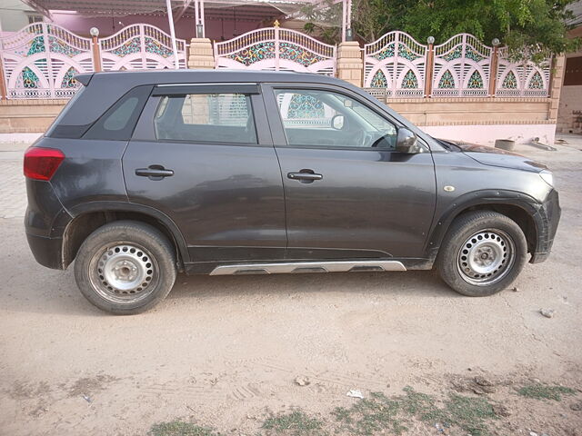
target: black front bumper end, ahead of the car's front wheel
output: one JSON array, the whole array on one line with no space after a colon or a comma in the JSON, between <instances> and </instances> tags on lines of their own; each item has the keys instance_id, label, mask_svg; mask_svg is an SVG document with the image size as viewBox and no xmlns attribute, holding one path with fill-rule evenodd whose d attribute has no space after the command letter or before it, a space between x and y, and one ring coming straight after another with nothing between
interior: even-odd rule
<instances>
[{"instance_id":1,"label":"black front bumper end, ahead of the car's front wheel","mask_svg":"<svg viewBox=\"0 0 582 436\"><path fill-rule=\"evenodd\" d=\"M552 250L552 244L556 237L557 224L560 221L559 196L556 190L552 190L542 206L534 213L533 218L536 223L537 242L536 251L532 253L530 263L541 263L546 261Z\"/></svg>"}]
</instances>

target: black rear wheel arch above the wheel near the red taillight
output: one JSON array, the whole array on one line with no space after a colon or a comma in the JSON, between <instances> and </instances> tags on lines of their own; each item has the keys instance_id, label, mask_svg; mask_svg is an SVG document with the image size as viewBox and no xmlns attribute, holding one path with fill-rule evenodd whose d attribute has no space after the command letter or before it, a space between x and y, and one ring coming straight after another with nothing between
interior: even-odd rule
<instances>
[{"instance_id":1,"label":"black rear wheel arch above the wheel near the red taillight","mask_svg":"<svg viewBox=\"0 0 582 436\"><path fill-rule=\"evenodd\" d=\"M64 269L75 260L76 253L89 234L105 223L121 220L148 223L164 233L176 249L179 271L183 271L184 264L190 262L186 240L176 223L165 213L154 208L135 203L92 202L76 207L69 213L73 219L66 223L63 233L62 263Z\"/></svg>"}]
</instances>

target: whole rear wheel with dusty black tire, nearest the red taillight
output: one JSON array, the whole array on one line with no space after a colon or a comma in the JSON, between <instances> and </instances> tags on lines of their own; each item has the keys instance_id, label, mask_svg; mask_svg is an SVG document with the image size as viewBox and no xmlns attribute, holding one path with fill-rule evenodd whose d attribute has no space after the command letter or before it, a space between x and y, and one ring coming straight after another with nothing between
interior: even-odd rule
<instances>
[{"instance_id":1,"label":"whole rear wheel with dusty black tire, nearest the red taillight","mask_svg":"<svg viewBox=\"0 0 582 436\"><path fill-rule=\"evenodd\" d=\"M145 312L164 300L174 286L176 252L151 225L107 223L79 248L75 281L85 298L105 312Z\"/></svg>"}]
</instances>

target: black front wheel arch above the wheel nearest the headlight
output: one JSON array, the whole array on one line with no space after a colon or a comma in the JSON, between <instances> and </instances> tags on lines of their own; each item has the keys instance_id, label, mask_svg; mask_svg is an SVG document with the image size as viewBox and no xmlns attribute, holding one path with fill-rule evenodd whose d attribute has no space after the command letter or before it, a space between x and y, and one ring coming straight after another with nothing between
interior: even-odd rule
<instances>
[{"instance_id":1,"label":"black front wheel arch above the wheel nearest the headlight","mask_svg":"<svg viewBox=\"0 0 582 436\"><path fill-rule=\"evenodd\" d=\"M451 224L463 213L476 210L502 213L516 222L526 235L527 252L535 253L539 232L536 216L540 207L540 203L525 193L501 190L466 193L438 215L426 241L426 253L435 260Z\"/></svg>"}]
</instances>

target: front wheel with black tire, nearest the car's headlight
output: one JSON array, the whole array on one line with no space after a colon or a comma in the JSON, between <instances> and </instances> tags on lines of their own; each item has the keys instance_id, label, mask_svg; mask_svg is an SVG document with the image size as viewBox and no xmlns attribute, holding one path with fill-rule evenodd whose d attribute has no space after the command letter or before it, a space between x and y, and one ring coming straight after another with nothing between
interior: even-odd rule
<instances>
[{"instance_id":1,"label":"front wheel with black tire, nearest the car's headlight","mask_svg":"<svg viewBox=\"0 0 582 436\"><path fill-rule=\"evenodd\" d=\"M485 297L507 289L526 262L526 236L517 223L501 213L474 211L451 224L437 271L455 291Z\"/></svg>"}]
</instances>

